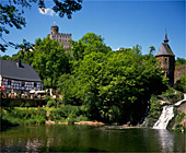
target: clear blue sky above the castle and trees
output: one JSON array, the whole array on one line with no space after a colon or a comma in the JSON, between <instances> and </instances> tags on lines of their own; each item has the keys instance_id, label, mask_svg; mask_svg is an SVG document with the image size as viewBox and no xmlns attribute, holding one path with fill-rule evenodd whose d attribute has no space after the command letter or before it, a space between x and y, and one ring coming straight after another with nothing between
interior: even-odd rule
<instances>
[{"instance_id":1,"label":"clear blue sky above the castle and trees","mask_svg":"<svg viewBox=\"0 0 186 153\"><path fill-rule=\"evenodd\" d=\"M73 40L79 40L86 33L104 37L104 43L113 50L140 45L142 54L148 54L150 46L155 54L167 31L168 44L175 57L186 59L185 0L84 0L82 9L72 14L72 19L59 17L51 10L51 0L45 0L47 10L42 13L37 4L25 10L26 27L9 28L3 38L8 42L22 43L23 38L34 43L50 33L50 27L59 26L59 33L71 33ZM1 3L8 0L1 0ZM56 22L56 23L54 23ZM19 50L9 48L1 56L12 56Z\"/></svg>"}]
</instances>

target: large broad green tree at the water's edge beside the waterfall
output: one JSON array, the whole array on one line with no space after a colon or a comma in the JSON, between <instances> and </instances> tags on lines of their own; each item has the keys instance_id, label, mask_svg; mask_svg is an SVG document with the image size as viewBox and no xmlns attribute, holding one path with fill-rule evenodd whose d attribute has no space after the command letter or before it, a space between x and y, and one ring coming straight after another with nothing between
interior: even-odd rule
<instances>
[{"instance_id":1,"label":"large broad green tree at the water's edge beside the waterfall","mask_svg":"<svg viewBox=\"0 0 186 153\"><path fill-rule=\"evenodd\" d=\"M90 119L102 121L137 123L150 95L163 90L155 59L146 59L139 46L107 54L92 51L74 66L73 75L80 86L77 97L86 105Z\"/></svg>"}]
</instances>

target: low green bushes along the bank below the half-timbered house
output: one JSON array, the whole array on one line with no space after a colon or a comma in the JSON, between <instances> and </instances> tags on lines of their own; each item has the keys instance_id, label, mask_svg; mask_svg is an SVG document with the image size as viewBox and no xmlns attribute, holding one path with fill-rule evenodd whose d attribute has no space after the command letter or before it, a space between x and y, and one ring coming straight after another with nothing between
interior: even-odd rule
<instances>
[{"instance_id":1,"label":"low green bushes along the bank below the half-timbered house","mask_svg":"<svg viewBox=\"0 0 186 153\"><path fill-rule=\"evenodd\" d=\"M60 108L0 108L0 121L4 127L45 123L47 120L55 122L86 121L86 109L83 106L66 105ZM0 127L1 130L1 127Z\"/></svg>"}]
</instances>

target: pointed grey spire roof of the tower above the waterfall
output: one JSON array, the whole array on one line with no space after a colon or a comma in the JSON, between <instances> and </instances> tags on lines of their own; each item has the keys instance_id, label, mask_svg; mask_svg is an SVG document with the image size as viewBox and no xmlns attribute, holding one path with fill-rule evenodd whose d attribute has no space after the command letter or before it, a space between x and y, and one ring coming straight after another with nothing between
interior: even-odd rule
<instances>
[{"instance_id":1,"label":"pointed grey spire roof of the tower above the waterfall","mask_svg":"<svg viewBox=\"0 0 186 153\"><path fill-rule=\"evenodd\" d=\"M170 45L167 44L168 39L167 39L167 33L165 31L165 39L164 43L161 44L159 52L156 54L155 57L160 57L160 56L173 56L175 57L175 55L173 54Z\"/></svg>"}]
</instances>

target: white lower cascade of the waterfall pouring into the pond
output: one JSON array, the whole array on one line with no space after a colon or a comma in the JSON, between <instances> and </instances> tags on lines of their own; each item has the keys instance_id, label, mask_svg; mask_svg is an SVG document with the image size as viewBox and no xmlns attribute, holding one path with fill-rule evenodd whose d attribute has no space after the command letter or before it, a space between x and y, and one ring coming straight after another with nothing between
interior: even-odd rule
<instances>
[{"instance_id":1,"label":"white lower cascade of the waterfall pouring into the pond","mask_svg":"<svg viewBox=\"0 0 186 153\"><path fill-rule=\"evenodd\" d=\"M168 121L174 117L174 106L164 106L162 115L160 116L159 120L154 123L154 129L166 129Z\"/></svg>"}]
</instances>

